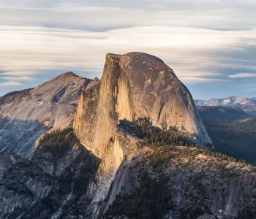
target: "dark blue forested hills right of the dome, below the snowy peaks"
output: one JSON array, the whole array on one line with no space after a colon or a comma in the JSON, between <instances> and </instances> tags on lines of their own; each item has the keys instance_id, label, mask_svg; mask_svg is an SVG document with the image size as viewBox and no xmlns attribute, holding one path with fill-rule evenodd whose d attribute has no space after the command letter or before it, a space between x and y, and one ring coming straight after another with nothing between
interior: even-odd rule
<instances>
[{"instance_id":1,"label":"dark blue forested hills right of the dome, below the snowy peaks","mask_svg":"<svg viewBox=\"0 0 256 219\"><path fill-rule=\"evenodd\" d=\"M227 106L198 107L198 112L218 152L256 163L256 118Z\"/></svg>"}]
</instances>

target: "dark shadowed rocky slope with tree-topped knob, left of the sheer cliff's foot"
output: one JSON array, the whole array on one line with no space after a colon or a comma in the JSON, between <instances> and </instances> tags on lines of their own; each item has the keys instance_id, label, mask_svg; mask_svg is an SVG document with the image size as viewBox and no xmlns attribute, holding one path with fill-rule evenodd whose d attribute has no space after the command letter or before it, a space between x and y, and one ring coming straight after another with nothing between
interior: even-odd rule
<instances>
[{"instance_id":1,"label":"dark shadowed rocky slope with tree-topped knob, left of the sheer cliff's foot","mask_svg":"<svg viewBox=\"0 0 256 219\"><path fill-rule=\"evenodd\" d=\"M60 138L61 137L61 138ZM0 218L79 218L86 215L89 184L99 159L72 130L46 134L31 161L0 156Z\"/></svg>"}]
</instances>

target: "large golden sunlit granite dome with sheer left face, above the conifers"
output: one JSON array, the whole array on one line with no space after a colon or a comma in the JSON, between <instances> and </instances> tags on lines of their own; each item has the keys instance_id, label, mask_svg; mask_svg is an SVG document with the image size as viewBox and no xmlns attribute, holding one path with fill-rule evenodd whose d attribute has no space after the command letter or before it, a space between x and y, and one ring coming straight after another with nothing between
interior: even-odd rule
<instances>
[{"instance_id":1,"label":"large golden sunlit granite dome with sheer left face, above the conifers","mask_svg":"<svg viewBox=\"0 0 256 219\"><path fill-rule=\"evenodd\" d=\"M78 137L101 157L118 120L143 117L159 128L194 134L199 145L211 144L191 94L162 60L146 53L107 54L101 81L80 97Z\"/></svg>"}]
</instances>

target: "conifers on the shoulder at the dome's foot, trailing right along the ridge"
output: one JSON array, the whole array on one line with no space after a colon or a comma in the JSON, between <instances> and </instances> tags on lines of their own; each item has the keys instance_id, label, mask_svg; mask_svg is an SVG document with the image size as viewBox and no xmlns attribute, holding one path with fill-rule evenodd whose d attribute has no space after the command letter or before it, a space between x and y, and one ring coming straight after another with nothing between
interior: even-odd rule
<instances>
[{"instance_id":1,"label":"conifers on the shoulder at the dome's foot, trailing right along the ridge","mask_svg":"<svg viewBox=\"0 0 256 219\"><path fill-rule=\"evenodd\" d=\"M153 126L148 118L138 118L134 123L130 123L127 120L122 120L121 123L125 123L128 127L128 131L135 134L140 139L143 139L145 145L152 147L154 149L162 147L161 154L152 156L151 161L153 166L159 166L164 164L165 161L170 161L170 158L175 156L174 153L177 152L176 146L189 146L195 147L196 142L192 139L192 136L186 132L178 131L176 126L170 126L168 130L162 130L156 126ZM226 161L234 161L239 163L245 163L243 158L234 158L231 155L220 152L211 152L206 150L191 150L191 148L186 148L179 151L182 156L187 156L187 158L195 158L195 154L205 153L206 155L212 156L214 158L221 158ZM197 151L197 152L196 152Z\"/></svg>"}]
</instances>

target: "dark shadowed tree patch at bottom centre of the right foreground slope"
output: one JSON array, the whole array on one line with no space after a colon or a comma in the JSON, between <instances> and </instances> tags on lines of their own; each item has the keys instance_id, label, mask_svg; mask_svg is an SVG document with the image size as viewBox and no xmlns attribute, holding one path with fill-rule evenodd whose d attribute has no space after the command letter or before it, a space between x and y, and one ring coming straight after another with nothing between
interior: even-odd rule
<instances>
[{"instance_id":1,"label":"dark shadowed tree patch at bottom centre of the right foreground slope","mask_svg":"<svg viewBox=\"0 0 256 219\"><path fill-rule=\"evenodd\" d=\"M129 194L118 195L105 213L105 218L127 216L138 219L163 218L170 210L170 195L165 175L151 177L147 172L140 174L140 187Z\"/></svg>"}]
</instances>

